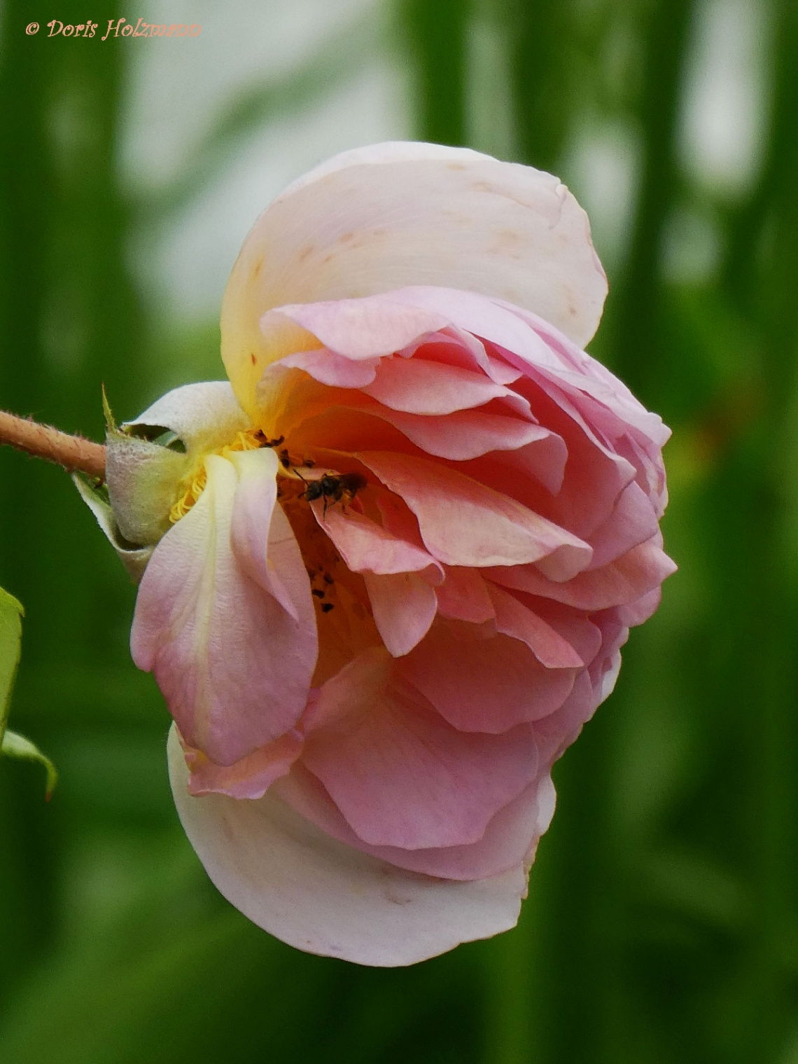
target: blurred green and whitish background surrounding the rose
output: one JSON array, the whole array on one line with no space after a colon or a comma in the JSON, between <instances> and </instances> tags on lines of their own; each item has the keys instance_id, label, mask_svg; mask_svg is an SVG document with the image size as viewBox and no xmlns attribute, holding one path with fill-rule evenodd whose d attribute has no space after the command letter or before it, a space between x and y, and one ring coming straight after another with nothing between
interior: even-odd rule
<instances>
[{"instance_id":1,"label":"blurred green and whitish background surrounding the rose","mask_svg":"<svg viewBox=\"0 0 798 1064\"><path fill-rule=\"evenodd\" d=\"M798 1064L796 0L0 4L0 408L102 433L223 376L236 250L288 180L419 137L562 176L591 350L674 429L680 572L556 768L519 927L414 968L293 951L172 807L134 601L63 472L0 450L26 605L0 764L3 1064ZM57 17L94 39L47 37ZM202 26L100 40L111 17ZM37 35L24 27L41 23Z\"/></svg>"}]
</instances>

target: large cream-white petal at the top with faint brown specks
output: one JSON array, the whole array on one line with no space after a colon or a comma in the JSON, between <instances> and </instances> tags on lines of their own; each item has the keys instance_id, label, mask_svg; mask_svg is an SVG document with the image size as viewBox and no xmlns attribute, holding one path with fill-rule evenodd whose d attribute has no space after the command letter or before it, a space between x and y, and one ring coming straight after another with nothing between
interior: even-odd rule
<instances>
[{"instance_id":1,"label":"large cream-white petal at the top with faint brown specks","mask_svg":"<svg viewBox=\"0 0 798 1064\"><path fill-rule=\"evenodd\" d=\"M556 178L437 145L347 152L267 207L233 267L222 359L245 410L256 414L255 384L275 356L260 329L266 311L405 285L508 300L579 345L606 294L587 218Z\"/></svg>"}]
</instances>

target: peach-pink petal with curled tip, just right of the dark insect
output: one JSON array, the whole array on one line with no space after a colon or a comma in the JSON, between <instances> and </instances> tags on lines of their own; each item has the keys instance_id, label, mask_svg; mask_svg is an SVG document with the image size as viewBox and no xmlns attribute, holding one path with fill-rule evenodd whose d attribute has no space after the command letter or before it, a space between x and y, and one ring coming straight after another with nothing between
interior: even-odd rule
<instances>
[{"instance_id":1,"label":"peach-pink petal with curled tip, just right of the dark insect","mask_svg":"<svg viewBox=\"0 0 798 1064\"><path fill-rule=\"evenodd\" d=\"M537 562L558 580L589 565L593 550L582 539L454 469L389 451L355 458L404 499L427 549L446 565Z\"/></svg>"}]
</instances>

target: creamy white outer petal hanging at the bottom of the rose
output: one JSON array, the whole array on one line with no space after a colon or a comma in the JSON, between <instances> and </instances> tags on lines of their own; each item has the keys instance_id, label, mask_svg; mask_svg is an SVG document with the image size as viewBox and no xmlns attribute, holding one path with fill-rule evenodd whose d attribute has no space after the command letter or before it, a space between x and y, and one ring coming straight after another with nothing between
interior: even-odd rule
<instances>
[{"instance_id":1,"label":"creamy white outer petal hanging at the bottom of the rose","mask_svg":"<svg viewBox=\"0 0 798 1064\"><path fill-rule=\"evenodd\" d=\"M397 868L331 838L278 798L194 798L172 728L174 804L200 861L245 916L298 949L397 967L506 931L527 893L522 864L472 882Z\"/></svg>"}]
</instances>

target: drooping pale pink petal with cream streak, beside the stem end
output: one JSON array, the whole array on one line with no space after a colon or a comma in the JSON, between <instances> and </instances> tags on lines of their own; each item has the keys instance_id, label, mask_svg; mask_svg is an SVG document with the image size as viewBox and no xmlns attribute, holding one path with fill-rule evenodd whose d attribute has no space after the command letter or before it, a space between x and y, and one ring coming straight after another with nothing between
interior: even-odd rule
<instances>
[{"instance_id":1,"label":"drooping pale pink petal with cream streak, beside the stem end","mask_svg":"<svg viewBox=\"0 0 798 1064\"><path fill-rule=\"evenodd\" d=\"M244 463L244 455L238 460ZM244 464L268 500L277 471L273 452L251 451ZM293 534L280 508L272 511L286 563L280 585L287 591L293 583L299 620L264 586L268 580L257 579L259 571L268 577L271 513L263 511L257 521L252 481L246 478L238 500L240 482L231 461L212 454L205 468L202 495L147 566L131 652L139 668L154 672L186 742L217 764L232 765L298 720L315 667L316 630L307 612L307 576L295 543L293 563L288 556L286 537L293 541ZM235 552L234 521L243 526Z\"/></svg>"}]
</instances>

